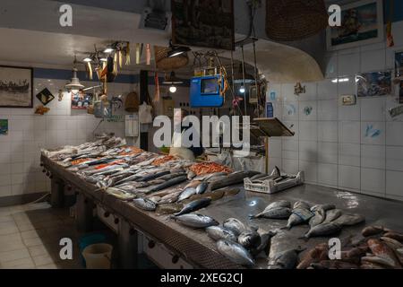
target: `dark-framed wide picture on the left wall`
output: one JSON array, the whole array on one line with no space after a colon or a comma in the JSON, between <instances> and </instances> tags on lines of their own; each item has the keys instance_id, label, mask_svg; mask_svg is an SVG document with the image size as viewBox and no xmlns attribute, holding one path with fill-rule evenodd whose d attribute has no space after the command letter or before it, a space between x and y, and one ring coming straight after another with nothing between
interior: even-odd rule
<instances>
[{"instance_id":1,"label":"dark-framed wide picture on the left wall","mask_svg":"<svg viewBox=\"0 0 403 287\"><path fill-rule=\"evenodd\" d=\"M32 108L33 70L0 65L0 108Z\"/></svg>"}]
</instances>

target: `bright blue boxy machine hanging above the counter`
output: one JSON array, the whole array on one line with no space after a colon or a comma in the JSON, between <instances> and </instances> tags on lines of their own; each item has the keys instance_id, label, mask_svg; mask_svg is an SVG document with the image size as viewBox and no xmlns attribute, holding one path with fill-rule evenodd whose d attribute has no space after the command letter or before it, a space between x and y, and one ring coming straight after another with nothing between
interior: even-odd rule
<instances>
[{"instance_id":1,"label":"bright blue boxy machine hanging above the counter","mask_svg":"<svg viewBox=\"0 0 403 287\"><path fill-rule=\"evenodd\" d=\"M220 92L222 90L224 90L224 77L219 74L192 78L190 95L191 107L222 107L224 104L224 95Z\"/></svg>"}]
</instances>

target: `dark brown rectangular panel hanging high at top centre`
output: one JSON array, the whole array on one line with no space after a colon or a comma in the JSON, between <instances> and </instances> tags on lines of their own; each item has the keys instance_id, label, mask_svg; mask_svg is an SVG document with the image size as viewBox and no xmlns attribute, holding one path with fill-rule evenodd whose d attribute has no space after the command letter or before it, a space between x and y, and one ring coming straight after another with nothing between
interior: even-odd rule
<instances>
[{"instance_id":1,"label":"dark brown rectangular panel hanging high at top centre","mask_svg":"<svg viewBox=\"0 0 403 287\"><path fill-rule=\"evenodd\" d=\"M172 0L171 9L174 44L235 49L234 0Z\"/></svg>"}]
</instances>

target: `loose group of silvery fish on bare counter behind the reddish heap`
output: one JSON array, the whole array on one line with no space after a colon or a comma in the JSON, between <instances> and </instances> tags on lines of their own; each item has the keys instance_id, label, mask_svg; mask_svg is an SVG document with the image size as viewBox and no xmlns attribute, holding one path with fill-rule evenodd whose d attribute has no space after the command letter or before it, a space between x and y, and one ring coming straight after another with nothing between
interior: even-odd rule
<instances>
[{"instance_id":1,"label":"loose group of silvery fish on bare counter behind the reddish heap","mask_svg":"<svg viewBox=\"0 0 403 287\"><path fill-rule=\"evenodd\" d=\"M334 235L345 226L365 221L364 216L343 213L334 204L316 204L311 207L308 203L298 201L291 207L291 203L285 200L269 204L262 213L251 215L251 218L287 219L287 225L283 228L287 230L296 225L308 224L310 229L303 239Z\"/></svg>"}]
</instances>

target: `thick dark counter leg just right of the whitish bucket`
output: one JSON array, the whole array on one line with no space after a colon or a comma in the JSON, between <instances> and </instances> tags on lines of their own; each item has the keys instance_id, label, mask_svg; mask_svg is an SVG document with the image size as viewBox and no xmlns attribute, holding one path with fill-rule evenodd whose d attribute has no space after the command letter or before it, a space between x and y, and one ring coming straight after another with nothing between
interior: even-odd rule
<instances>
[{"instance_id":1,"label":"thick dark counter leg just right of the whitish bucket","mask_svg":"<svg viewBox=\"0 0 403 287\"><path fill-rule=\"evenodd\" d=\"M138 232L124 220L119 221L118 249L120 268L138 268Z\"/></svg>"}]
</instances>

